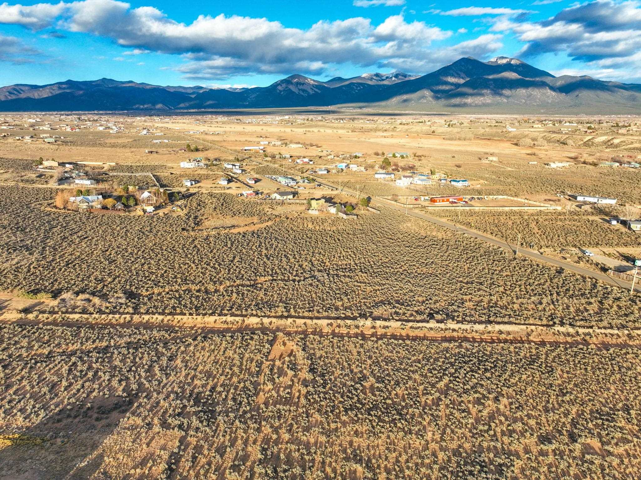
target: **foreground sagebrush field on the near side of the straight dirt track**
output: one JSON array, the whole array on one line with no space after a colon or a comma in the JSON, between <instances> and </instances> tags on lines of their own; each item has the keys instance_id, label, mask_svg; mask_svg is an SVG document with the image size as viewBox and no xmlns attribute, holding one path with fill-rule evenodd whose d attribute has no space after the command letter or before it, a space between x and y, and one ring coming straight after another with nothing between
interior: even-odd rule
<instances>
[{"instance_id":1,"label":"foreground sagebrush field on the near side of the straight dirt track","mask_svg":"<svg viewBox=\"0 0 641 480\"><path fill-rule=\"evenodd\" d=\"M637 347L20 325L0 340L4 478L612 480L641 468Z\"/></svg>"}]
</instances>

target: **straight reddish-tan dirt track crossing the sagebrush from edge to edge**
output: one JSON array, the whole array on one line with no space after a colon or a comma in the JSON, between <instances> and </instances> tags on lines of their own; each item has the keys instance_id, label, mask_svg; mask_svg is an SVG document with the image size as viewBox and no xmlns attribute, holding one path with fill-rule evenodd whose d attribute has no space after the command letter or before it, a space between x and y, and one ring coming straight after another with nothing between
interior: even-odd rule
<instances>
[{"instance_id":1,"label":"straight reddish-tan dirt track crossing the sagebrush from edge to edge","mask_svg":"<svg viewBox=\"0 0 641 480\"><path fill-rule=\"evenodd\" d=\"M354 320L280 319L260 317L213 317L195 315L63 315L4 313L0 325L117 328L168 328L207 333L263 332L283 335L318 335L372 340L432 342L533 343L540 345L594 346L641 349L637 331L574 327L531 327L516 324L437 324ZM190 334L191 335L191 334Z\"/></svg>"}]
</instances>

